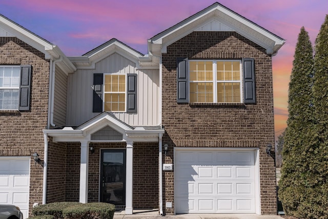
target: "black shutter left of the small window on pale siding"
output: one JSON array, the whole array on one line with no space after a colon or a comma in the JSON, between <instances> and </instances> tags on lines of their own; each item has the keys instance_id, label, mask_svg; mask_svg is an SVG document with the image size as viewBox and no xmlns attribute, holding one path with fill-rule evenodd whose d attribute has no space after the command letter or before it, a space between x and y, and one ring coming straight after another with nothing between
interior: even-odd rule
<instances>
[{"instance_id":1,"label":"black shutter left of the small window on pale siding","mask_svg":"<svg viewBox=\"0 0 328 219\"><path fill-rule=\"evenodd\" d=\"M101 73L93 74L92 112L103 112L103 78Z\"/></svg>"}]
</instances>

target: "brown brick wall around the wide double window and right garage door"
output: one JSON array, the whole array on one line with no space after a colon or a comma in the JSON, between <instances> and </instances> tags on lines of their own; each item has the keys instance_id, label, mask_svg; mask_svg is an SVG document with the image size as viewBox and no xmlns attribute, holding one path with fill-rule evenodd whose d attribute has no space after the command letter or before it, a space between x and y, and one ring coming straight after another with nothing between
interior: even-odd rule
<instances>
[{"instance_id":1,"label":"brown brick wall around the wide double window and right garage door","mask_svg":"<svg viewBox=\"0 0 328 219\"><path fill-rule=\"evenodd\" d=\"M177 104L177 57L189 59L241 59L254 57L256 104ZM272 58L265 49L236 32L193 32L167 48L162 55L163 143L172 147L260 148L261 213L276 214L274 160L265 147L274 145ZM173 153L166 163L173 163ZM174 172L165 172L164 203L172 202Z\"/></svg>"}]
</instances>

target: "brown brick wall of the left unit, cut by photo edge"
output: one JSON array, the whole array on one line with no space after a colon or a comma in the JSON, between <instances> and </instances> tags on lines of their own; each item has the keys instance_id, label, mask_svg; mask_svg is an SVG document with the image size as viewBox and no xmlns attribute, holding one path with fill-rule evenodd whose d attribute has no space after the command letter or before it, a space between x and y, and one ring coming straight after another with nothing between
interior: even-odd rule
<instances>
[{"instance_id":1,"label":"brown brick wall of the left unit, cut by photo edge","mask_svg":"<svg viewBox=\"0 0 328 219\"><path fill-rule=\"evenodd\" d=\"M32 90L29 111L0 110L0 156L44 158L44 135L47 126L49 61L45 55L16 37L0 37L0 65L32 65ZM42 203L43 168L30 163L30 203Z\"/></svg>"}]
</instances>

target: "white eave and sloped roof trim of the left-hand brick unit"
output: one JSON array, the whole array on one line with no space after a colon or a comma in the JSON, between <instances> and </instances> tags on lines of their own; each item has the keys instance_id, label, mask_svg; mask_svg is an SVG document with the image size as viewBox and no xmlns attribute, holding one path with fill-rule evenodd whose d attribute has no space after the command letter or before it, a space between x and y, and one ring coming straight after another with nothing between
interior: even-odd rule
<instances>
[{"instance_id":1,"label":"white eave and sloped roof trim of the left-hand brick unit","mask_svg":"<svg viewBox=\"0 0 328 219\"><path fill-rule=\"evenodd\" d=\"M26 44L44 53L46 59L60 58L61 62L59 62L58 65L66 72L75 71L74 65L58 46L53 45L46 39L18 25L2 14L0 14L0 36L17 37Z\"/></svg>"}]
</instances>

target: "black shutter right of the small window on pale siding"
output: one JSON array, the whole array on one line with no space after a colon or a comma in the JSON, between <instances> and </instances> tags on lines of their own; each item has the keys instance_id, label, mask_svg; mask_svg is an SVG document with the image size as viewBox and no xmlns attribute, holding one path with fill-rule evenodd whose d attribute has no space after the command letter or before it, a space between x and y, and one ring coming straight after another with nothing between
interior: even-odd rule
<instances>
[{"instance_id":1,"label":"black shutter right of the small window on pale siding","mask_svg":"<svg viewBox=\"0 0 328 219\"><path fill-rule=\"evenodd\" d=\"M137 74L128 74L127 112L137 112Z\"/></svg>"}]
</instances>

